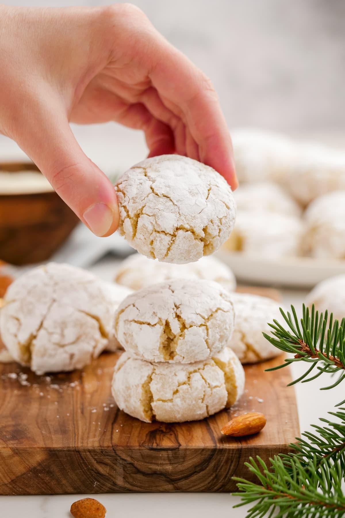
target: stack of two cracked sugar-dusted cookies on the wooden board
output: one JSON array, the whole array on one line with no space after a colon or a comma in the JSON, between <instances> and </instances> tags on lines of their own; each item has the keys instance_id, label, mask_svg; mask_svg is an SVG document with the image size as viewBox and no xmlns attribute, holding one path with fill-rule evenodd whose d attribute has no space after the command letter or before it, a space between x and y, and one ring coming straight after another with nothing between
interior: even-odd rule
<instances>
[{"instance_id":1,"label":"stack of two cracked sugar-dusted cookies on the wooden board","mask_svg":"<svg viewBox=\"0 0 345 518\"><path fill-rule=\"evenodd\" d=\"M152 422L204 419L244 390L244 370L227 343L231 294L207 280L176 279L125 298L115 334L125 352L112 382L118 407Z\"/></svg>"}]
</instances>

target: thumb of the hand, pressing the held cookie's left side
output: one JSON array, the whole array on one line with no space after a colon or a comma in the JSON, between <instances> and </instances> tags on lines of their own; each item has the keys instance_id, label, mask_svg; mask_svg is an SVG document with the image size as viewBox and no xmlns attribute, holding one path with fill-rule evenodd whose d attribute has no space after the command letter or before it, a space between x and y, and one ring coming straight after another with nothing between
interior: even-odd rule
<instances>
[{"instance_id":1,"label":"thumb of the hand, pressing the held cookie's left side","mask_svg":"<svg viewBox=\"0 0 345 518\"><path fill-rule=\"evenodd\" d=\"M115 190L80 148L64 110L40 103L28 112L14 140L80 220L96 236L110 236L119 219Z\"/></svg>"}]
</instances>

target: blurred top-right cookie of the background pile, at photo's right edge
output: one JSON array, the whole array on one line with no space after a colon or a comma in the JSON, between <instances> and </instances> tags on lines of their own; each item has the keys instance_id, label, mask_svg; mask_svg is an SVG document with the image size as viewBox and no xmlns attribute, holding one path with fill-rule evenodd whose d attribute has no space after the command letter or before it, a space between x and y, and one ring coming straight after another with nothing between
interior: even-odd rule
<instances>
[{"instance_id":1,"label":"blurred top-right cookie of the background pile, at photo's right edge","mask_svg":"<svg viewBox=\"0 0 345 518\"><path fill-rule=\"evenodd\" d=\"M303 205L328 192L345 189L345 152L318 142L303 142L282 183Z\"/></svg>"}]
</instances>

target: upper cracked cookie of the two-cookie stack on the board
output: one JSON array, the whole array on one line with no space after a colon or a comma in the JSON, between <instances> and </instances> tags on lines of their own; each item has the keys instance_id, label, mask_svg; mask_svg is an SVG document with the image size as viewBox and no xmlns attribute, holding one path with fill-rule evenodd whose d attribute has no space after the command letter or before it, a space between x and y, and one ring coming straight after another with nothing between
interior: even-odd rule
<instances>
[{"instance_id":1,"label":"upper cracked cookie of the two-cookie stack on the board","mask_svg":"<svg viewBox=\"0 0 345 518\"><path fill-rule=\"evenodd\" d=\"M191 363L212 357L229 341L230 292L213 281L175 279L134 292L115 314L115 336L134 356Z\"/></svg>"}]
</instances>

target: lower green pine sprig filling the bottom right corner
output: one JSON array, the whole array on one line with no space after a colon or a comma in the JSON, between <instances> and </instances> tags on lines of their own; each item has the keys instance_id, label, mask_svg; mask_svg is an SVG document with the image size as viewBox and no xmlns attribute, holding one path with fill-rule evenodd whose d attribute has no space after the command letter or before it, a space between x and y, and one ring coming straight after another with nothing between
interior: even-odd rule
<instances>
[{"instance_id":1,"label":"lower green pine sprig filling the bottom right corner","mask_svg":"<svg viewBox=\"0 0 345 518\"><path fill-rule=\"evenodd\" d=\"M290 444L294 453L277 455L267 466L260 457L246 463L258 479L250 482L233 477L243 492L235 507L254 503L248 518L261 516L337 517L345 514L341 484L345 475L345 413L329 412L340 422L321 419L312 425L317 434L306 432L306 439Z\"/></svg>"}]
</instances>

